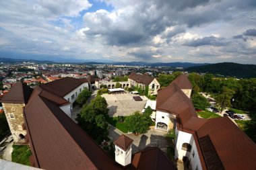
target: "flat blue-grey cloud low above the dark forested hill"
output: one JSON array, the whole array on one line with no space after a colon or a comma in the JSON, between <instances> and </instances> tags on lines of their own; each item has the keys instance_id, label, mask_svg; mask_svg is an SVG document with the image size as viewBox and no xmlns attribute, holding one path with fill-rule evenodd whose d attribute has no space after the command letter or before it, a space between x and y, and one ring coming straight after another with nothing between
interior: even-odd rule
<instances>
[{"instance_id":1,"label":"flat blue-grey cloud low above the dark forested hill","mask_svg":"<svg viewBox=\"0 0 256 170\"><path fill-rule=\"evenodd\" d=\"M228 42L224 38L216 38L215 36L206 36L189 40L184 43L185 46L226 46Z\"/></svg>"}]
</instances>

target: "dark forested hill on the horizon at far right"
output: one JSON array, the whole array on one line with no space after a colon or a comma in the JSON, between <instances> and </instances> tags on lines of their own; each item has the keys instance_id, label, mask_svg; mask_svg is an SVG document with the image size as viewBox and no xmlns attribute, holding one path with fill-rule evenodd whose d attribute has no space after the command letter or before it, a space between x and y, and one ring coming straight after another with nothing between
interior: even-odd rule
<instances>
[{"instance_id":1,"label":"dark forested hill on the horizon at far right","mask_svg":"<svg viewBox=\"0 0 256 170\"><path fill-rule=\"evenodd\" d=\"M256 77L256 65L242 65L234 62L221 62L212 65L189 67L186 71L196 73L212 73L238 78Z\"/></svg>"}]
</instances>

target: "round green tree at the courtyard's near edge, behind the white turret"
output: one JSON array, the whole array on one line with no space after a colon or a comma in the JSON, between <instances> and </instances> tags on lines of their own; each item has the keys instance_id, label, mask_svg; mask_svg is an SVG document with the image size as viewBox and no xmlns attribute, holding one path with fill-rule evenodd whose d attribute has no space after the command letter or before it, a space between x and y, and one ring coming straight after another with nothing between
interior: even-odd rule
<instances>
[{"instance_id":1,"label":"round green tree at the courtyard's near edge, behind the white turret","mask_svg":"<svg viewBox=\"0 0 256 170\"><path fill-rule=\"evenodd\" d=\"M131 116L125 118L125 124L127 125L127 130L135 134L144 134L148 132L150 127L150 121L148 119L148 116L144 116L138 111L134 112Z\"/></svg>"}]
</instances>

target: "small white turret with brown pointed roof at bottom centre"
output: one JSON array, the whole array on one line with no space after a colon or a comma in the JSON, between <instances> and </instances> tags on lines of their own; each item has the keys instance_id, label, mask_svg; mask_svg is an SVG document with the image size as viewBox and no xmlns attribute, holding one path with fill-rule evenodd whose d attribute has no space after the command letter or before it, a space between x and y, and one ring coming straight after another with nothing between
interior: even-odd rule
<instances>
[{"instance_id":1,"label":"small white turret with brown pointed roof at bottom centre","mask_svg":"<svg viewBox=\"0 0 256 170\"><path fill-rule=\"evenodd\" d=\"M124 134L115 140L115 161L124 167L131 163L131 144L133 140Z\"/></svg>"}]
</instances>

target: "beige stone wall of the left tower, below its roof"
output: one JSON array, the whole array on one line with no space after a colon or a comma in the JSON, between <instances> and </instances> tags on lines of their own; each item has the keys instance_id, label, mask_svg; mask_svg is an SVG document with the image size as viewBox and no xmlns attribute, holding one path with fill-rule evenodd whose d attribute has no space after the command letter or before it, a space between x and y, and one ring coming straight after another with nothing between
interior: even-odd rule
<instances>
[{"instance_id":1,"label":"beige stone wall of the left tower, below its roof","mask_svg":"<svg viewBox=\"0 0 256 170\"><path fill-rule=\"evenodd\" d=\"M19 135L26 135L26 130L23 130L22 128L22 124L24 124L24 106L24 103L3 103L3 109L5 111L5 116L7 118L11 134L13 135L14 142L24 142L24 140L20 140ZM13 118L11 116L13 116Z\"/></svg>"}]
</instances>

